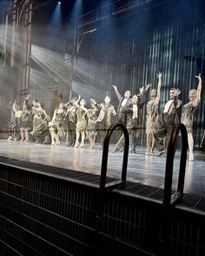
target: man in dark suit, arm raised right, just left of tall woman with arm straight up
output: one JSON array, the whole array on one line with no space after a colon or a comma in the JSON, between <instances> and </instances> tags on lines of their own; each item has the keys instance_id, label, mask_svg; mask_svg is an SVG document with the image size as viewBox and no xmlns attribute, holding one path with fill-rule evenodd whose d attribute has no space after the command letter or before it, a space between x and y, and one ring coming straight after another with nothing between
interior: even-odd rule
<instances>
[{"instance_id":1,"label":"man in dark suit, arm raised right, just left of tall woman with arm straight up","mask_svg":"<svg viewBox=\"0 0 205 256\"><path fill-rule=\"evenodd\" d=\"M151 84L146 84L145 87L140 88L140 93L137 95L134 94L131 98L131 102L127 106L127 129L129 133L133 131L133 139L132 139L132 153L136 153L136 145L140 138L140 132L142 130L141 127L141 110L142 106L145 103L145 95L148 91ZM116 143L116 148L114 152L122 151L124 147L125 139L122 134L121 138Z\"/></svg>"}]
</instances>

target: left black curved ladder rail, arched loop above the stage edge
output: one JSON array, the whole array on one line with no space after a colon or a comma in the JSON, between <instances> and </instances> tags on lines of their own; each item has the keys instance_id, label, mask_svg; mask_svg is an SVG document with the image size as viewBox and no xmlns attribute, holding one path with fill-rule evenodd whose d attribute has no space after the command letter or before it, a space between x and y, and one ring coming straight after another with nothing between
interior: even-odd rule
<instances>
[{"instance_id":1,"label":"left black curved ladder rail, arched loop above the stage edge","mask_svg":"<svg viewBox=\"0 0 205 256\"><path fill-rule=\"evenodd\" d=\"M113 183L106 185L106 175L107 175L107 168L108 168L108 154L109 154L109 139L116 130L116 128L121 128L125 138L125 145L124 145L124 152L123 152L123 162L122 162L122 177L121 177L121 185L125 185L126 177L127 177L127 166L128 166L128 155L129 155L129 133L127 128L117 123L116 125L111 125L109 130L106 133L103 143L103 152L102 152L102 165L101 165L101 181L100 181L100 190L104 190L105 188L114 188L119 183L116 183L113 187Z\"/></svg>"}]
</instances>

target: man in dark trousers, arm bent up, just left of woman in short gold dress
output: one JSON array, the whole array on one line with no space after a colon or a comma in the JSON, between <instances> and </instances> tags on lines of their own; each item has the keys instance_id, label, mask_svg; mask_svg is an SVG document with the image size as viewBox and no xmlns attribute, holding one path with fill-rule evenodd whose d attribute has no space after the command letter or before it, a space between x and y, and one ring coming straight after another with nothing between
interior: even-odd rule
<instances>
[{"instance_id":1,"label":"man in dark trousers, arm bent up, just left of woman in short gold dress","mask_svg":"<svg viewBox=\"0 0 205 256\"><path fill-rule=\"evenodd\" d=\"M80 101L80 97L71 98L68 104L65 104L68 109L66 112L67 119L67 138L68 146L74 146L76 141L76 104Z\"/></svg>"}]
</instances>

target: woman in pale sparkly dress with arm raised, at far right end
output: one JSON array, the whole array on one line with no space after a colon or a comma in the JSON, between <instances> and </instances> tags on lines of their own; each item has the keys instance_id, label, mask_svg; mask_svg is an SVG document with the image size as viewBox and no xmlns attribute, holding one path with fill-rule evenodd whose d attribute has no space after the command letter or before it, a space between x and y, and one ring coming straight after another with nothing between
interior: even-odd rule
<instances>
[{"instance_id":1,"label":"woman in pale sparkly dress with arm raised, at far right end","mask_svg":"<svg viewBox=\"0 0 205 256\"><path fill-rule=\"evenodd\" d=\"M188 92L189 102L188 104L184 104L182 106L182 118L181 123L186 126L188 132L188 160L194 160L194 139L193 139L193 115L195 110L201 101L201 91L202 91L202 77L201 74L199 76L195 76L198 78L198 87L197 91L192 89Z\"/></svg>"}]
</instances>

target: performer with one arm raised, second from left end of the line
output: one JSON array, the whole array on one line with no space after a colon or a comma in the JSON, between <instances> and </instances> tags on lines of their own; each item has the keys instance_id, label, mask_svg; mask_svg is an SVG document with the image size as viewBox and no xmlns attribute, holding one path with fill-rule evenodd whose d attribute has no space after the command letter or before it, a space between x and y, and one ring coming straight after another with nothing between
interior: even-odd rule
<instances>
[{"instance_id":1,"label":"performer with one arm raised, second from left end of the line","mask_svg":"<svg viewBox=\"0 0 205 256\"><path fill-rule=\"evenodd\" d=\"M27 142L30 140L30 134L29 131L32 127L32 113L30 105L28 104L30 98L30 94L24 98L23 101L23 114L22 114L22 122L21 122L21 128L20 128L20 134L21 134L21 140Z\"/></svg>"}]
</instances>

